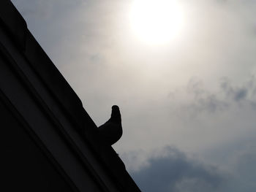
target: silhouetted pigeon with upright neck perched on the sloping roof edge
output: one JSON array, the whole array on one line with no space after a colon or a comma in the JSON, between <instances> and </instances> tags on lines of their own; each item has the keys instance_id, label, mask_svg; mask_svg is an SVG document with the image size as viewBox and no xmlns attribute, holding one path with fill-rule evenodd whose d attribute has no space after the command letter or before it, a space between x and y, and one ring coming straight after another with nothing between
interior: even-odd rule
<instances>
[{"instance_id":1,"label":"silhouetted pigeon with upright neck perched on the sloping roof edge","mask_svg":"<svg viewBox=\"0 0 256 192\"><path fill-rule=\"evenodd\" d=\"M113 145L121 138L123 129L121 126L121 114L117 105L112 106L110 119L102 126L99 126L98 130L103 141L109 145Z\"/></svg>"}]
</instances>

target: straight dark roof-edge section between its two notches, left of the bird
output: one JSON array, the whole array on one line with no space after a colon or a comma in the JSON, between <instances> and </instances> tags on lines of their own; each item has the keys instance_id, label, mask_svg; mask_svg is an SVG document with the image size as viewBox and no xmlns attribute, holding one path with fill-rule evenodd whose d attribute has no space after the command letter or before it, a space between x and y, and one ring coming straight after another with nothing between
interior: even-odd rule
<instances>
[{"instance_id":1,"label":"straight dark roof-edge section between its two notches, left of the bird","mask_svg":"<svg viewBox=\"0 0 256 192\"><path fill-rule=\"evenodd\" d=\"M59 104L64 107L73 120L79 122L81 114L84 112L82 102L29 30L27 30L26 49L23 54L34 72L45 82L50 93L59 101Z\"/></svg>"}]
</instances>

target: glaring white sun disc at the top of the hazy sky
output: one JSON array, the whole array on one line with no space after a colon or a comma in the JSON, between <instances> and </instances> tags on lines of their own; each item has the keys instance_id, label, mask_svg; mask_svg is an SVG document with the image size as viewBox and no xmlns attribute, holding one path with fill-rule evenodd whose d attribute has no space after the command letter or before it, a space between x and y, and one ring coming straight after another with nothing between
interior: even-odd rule
<instances>
[{"instance_id":1,"label":"glaring white sun disc at the top of the hazy sky","mask_svg":"<svg viewBox=\"0 0 256 192\"><path fill-rule=\"evenodd\" d=\"M183 9L175 0L135 0L129 19L138 39L151 45L176 39L184 26Z\"/></svg>"}]
</instances>

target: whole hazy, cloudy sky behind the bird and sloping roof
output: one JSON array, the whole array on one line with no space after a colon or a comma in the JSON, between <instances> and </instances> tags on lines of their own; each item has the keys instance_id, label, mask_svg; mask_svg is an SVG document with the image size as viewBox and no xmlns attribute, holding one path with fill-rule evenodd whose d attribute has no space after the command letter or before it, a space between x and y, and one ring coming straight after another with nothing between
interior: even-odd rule
<instances>
[{"instance_id":1,"label":"whole hazy, cloudy sky behind the bird and sloping roof","mask_svg":"<svg viewBox=\"0 0 256 192\"><path fill-rule=\"evenodd\" d=\"M256 191L256 1L138 1L12 3L142 191Z\"/></svg>"}]
</instances>

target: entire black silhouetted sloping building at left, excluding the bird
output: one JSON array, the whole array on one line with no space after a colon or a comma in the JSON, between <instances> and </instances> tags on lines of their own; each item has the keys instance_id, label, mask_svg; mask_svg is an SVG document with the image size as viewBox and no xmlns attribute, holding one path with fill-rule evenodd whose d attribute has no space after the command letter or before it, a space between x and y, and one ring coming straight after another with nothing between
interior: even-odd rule
<instances>
[{"instance_id":1,"label":"entire black silhouetted sloping building at left, excluding the bird","mask_svg":"<svg viewBox=\"0 0 256 192\"><path fill-rule=\"evenodd\" d=\"M9 0L0 1L0 112L8 191L140 191Z\"/></svg>"}]
</instances>

